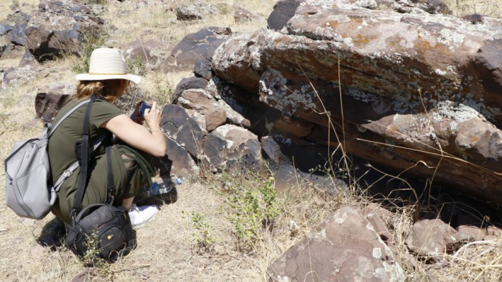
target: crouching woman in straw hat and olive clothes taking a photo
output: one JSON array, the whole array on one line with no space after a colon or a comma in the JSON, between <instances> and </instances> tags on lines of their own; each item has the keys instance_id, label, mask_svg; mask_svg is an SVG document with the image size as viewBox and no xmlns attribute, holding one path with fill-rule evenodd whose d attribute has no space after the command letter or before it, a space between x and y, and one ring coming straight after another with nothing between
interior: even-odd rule
<instances>
[{"instance_id":1,"label":"crouching woman in straw hat and olive clothes taking a photo","mask_svg":"<svg viewBox=\"0 0 502 282\"><path fill-rule=\"evenodd\" d=\"M151 183L154 174L150 160L153 156L162 157L166 152L166 140L160 128L162 112L157 103L145 110L144 116L138 115L138 106L132 117L124 114L113 105L126 90L129 81L139 83L141 77L127 74L127 65L118 49L99 48L92 52L89 73L78 74L76 94L59 111L53 124L64 116L72 107L95 94L89 121L89 143L110 131L118 142L112 146L112 170L115 182L114 205L129 209L133 227L150 221L158 209L157 206L137 207L133 204L134 196L141 188ZM49 159L52 180L58 177L76 161L75 144L81 140L86 105L81 106L68 116L49 139ZM133 120L134 119L134 120ZM146 121L150 130L142 125ZM90 178L82 200L82 208L107 201L107 172L104 148L92 154L88 171ZM63 183L58 191L58 201L52 212L65 223L70 223L70 212L77 189L79 169Z\"/></svg>"}]
</instances>

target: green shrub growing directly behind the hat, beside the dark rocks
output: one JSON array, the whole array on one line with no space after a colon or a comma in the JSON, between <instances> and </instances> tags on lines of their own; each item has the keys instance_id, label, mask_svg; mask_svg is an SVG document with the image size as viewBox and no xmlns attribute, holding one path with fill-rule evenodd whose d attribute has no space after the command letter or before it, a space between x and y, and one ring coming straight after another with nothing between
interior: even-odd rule
<instances>
[{"instance_id":1,"label":"green shrub growing directly behind the hat, beside the dark rocks","mask_svg":"<svg viewBox=\"0 0 502 282\"><path fill-rule=\"evenodd\" d=\"M73 66L76 73L89 72L89 60L92 51L103 46L109 34L105 29L91 29L81 34L82 45L80 46L80 60Z\"/></svg>"}]
</instances>

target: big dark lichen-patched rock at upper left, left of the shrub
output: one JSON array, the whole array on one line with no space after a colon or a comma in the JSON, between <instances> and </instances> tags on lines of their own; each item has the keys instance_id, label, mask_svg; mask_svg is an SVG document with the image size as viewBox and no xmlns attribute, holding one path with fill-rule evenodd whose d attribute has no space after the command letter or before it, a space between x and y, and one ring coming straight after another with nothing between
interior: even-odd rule
<instances>
[{"instance_id":1,"label":"big dark lichen-patched rock at upper left, left of the shrub","mask_svg":"<svg viewBox=\"0 0 502 282\"><path fill-rule=\"evenodd\" d=\"M38 61L78 54L82 33L96 31L102 24L89 6L77 1L42 0L23 29L21 41Z\"/></svg>"}]
</instances>

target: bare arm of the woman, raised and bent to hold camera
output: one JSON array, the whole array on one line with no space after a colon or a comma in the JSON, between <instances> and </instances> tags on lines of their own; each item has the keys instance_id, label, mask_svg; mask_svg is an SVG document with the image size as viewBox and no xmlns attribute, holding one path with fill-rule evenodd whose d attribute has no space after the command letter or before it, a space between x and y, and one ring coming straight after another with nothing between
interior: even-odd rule
<instances>
[{"instance_id":1,"label":"bare arm of the woman, raised and bent to hold camera","mask_svg":"<svg viewBox=\"0 0 502 282\"><path fill-rule=\"evenodd\" d=\"M152 108L145 111L144 117L151 131L134 122L126 114L117 115L101 124L100 127L110 130L117 138L135 148L153 156L165 156L167 144L164 133L160 129L162 112L157 109L157 102L153 102Z\"/></svg>"}]
</instances>

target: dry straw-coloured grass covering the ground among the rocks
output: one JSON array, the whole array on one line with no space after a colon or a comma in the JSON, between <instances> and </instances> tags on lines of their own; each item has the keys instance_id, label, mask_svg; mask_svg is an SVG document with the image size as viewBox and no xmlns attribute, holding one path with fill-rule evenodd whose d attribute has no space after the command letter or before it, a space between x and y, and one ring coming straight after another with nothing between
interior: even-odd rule
<instances>
[{"instance_id":1,"label":"dry straw-coloured grass covering the ground among the rocks","mask_svg":"<svg viewBox=\"0 0 502 282\"><path fill-rule=\"evenodd\" d=\"M497 0L457 1L449 0L456 15L482 13L500 16ZM455 2L453 2L455 1ZM38 1L24 1L35 5ZM112 22L117 31L111 34L109 43L122 46L136 39L157 39L174 45L187 33L196 32L217 23L220 27L231 27L234 32L251 33L258 27L266 26L266 16L272 10L274 1L222 1L220 13L205 21L188 24L172 23L173 11L166 7L194 1L164 1L164 4L142 7L135 1L122 4L113 2L103 17ZM0 0L0 17L10 13L12 1ZM484 6L476 6L480 3ZM36 5L35 5L36 6ZM29 11L35 6L25 6ZM226 8L225 8L226 7ZM233 21L234 7L255 11L263 19L237 24ZM23 8L23 7L21 7ZM23 9L25 9L23 8ZM484 12L484 13L483 13ZM5 15L4 15L5 14ZM148 15L148 17L145 17ZM214 24L211 24L214 25ZM4 160L13 144L20 139L36 136L42 124L35 120L33 107L35 91L51 82L74 83L71 68L74 57L66 57L56 62L45 63L50 70L47 76L37 78L18 87L0 92L0 159ZM0 67L17 65L19 58L0 60ZM177 82L191 75L191 72L177 72L162 75L148 72L139 86L142 93L156 99L160 104L170 101L170 95ZM4 163L0 164L0 178L5 179ZM138 247L130 255L115 264L94 269L93 280L131 281L264 281L269 264L285 250L300 240L330 212L345 203L364 205L370 202L363 193L343 194L331 198L311 184L298 180L298 184L279 197L281 212L274 229L264 232L260 240L251 248L242 251L231 224L227 220L225 199L218 193L221 183L218 176L205 182L184 183L177 188L177 200L161 206L154 221L137 230ZM253 186L253 183L249 183ZM352 191L357 187L352 186ZM68 281L84 270L82 263L68 250L57 251L39 249L37 238L53 216L39 221L16 216L5 204L5 191L0 188L0 277L7 281ZM417 204L418 205L418 204ZM417 260L404 243L416 218L418 206L399 208L392 223L393 250L409 281L500 281L502 275L502 239L488 244L474 244L465 247L456 255L445 254L440 263L426 264ZM187 213L204 215L211 227L215 243L211 250L200 252L191 219ZM299 229L290 229L294 221ZM31 253L33 252L33 253ZM37 253L40 252L40 253Z\"/></svg>"}]
</instances>

